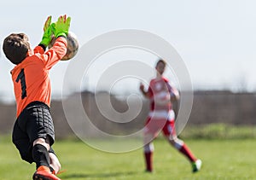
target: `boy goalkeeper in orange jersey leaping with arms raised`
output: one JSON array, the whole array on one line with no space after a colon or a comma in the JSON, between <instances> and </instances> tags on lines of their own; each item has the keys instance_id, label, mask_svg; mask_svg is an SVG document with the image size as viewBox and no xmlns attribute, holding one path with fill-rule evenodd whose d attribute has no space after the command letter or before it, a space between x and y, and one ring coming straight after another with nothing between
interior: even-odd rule
<instances>
[{"instance_id":1,"label":"boy goalkeeper in orange jersey leaping with arms raised","mask_svg":"<svg viewBox=\"0 0 256 180\"><path fill-rule=\"evenodd\" d=\"M22 160L36 163L33 179L60 179L55 174L61 169L61 164L51 148L55 131L49 113L49 70L67 52L70 20L64 15L51 23L49 16L44 24L42 41L33 50L24 33L12 33L3 41L4 54L16 65L11 71L17 110L12 139ZM55 44L45 51L53 35L57 38Z\"/></svg>"}]
</instances>

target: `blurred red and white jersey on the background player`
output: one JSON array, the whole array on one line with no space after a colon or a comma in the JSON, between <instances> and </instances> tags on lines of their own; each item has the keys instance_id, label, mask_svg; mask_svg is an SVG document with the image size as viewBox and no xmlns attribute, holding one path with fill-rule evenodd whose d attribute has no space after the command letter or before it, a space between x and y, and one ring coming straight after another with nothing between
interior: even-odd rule
<instances>
[{"instance_id":1,"label":"blurred red and white jersey on the background player","mask_svg":"<svg viewBox=\"0 0 256 180\"><path fill-rule=\"evenodd\" d=\"M177 92L169 84L166 78L154 78L150 81L148 93L150 98L150 110L152 111L170 111L172 109L171 96L177 95ZM168 101L165 104L157 102Z\"/></svg>"}]
</instances>

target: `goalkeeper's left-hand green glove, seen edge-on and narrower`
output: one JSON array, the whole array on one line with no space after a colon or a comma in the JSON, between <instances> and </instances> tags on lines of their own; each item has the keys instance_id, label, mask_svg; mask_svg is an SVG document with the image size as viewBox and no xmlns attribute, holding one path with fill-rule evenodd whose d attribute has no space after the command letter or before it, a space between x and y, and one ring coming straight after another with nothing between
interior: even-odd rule
<instances>
[{"instance_id":1,"label":"goalkeeper's left-hand green glove, seen edge-on and narrower","mask_svg":"<svg viewBox=\"0 0 256 180\"><path fill-rule=\"evenodd\" d=\"M51 16L49 16L44 23L44 35L40 44L43 44L45 47L49 45L54 32L54 27L55 23L51 24Z\"/></svg>"}]
</instances>

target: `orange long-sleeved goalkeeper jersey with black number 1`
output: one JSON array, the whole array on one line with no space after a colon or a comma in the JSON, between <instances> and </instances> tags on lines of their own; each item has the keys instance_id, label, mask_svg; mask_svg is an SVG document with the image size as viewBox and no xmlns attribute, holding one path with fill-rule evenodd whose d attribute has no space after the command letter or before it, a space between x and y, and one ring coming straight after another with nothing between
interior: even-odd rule
<instances>
[{"instance_id":1,"label":"orange long-sleeved goalkeeper jersey with black number 1","mask_svg":"<svg viewBox=\"0 0 256 180\"><path fill-rule=\"evenodd\" d=\"M66 38L57 38L54 46L46 52L41 46L29 51L26 59L11 71L17 117L30 102L39 101L50 105L49 69L60 61L66 52Z\"/></svg>"}]
</instances>

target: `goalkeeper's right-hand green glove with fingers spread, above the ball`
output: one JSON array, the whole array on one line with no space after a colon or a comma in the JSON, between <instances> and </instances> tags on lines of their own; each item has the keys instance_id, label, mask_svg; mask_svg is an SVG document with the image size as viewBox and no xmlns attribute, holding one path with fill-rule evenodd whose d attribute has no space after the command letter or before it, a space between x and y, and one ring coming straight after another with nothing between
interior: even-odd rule
<instances>
[{"instance_id":1,"label":"goalkeeper's right-hand green glove with fingers spread, above the ball","mask_svg":"<svg viewBox=\"0 0 256 180\"><path fill-rule=\"evenodd\" d=\"M58 38L60 36L67 38L67 33L70 26L70 20L71 18L67 15L60 16L59 19L55 22L55 37Z\"/></svg>"}]
</instances>

